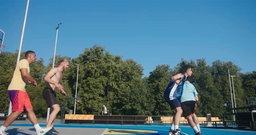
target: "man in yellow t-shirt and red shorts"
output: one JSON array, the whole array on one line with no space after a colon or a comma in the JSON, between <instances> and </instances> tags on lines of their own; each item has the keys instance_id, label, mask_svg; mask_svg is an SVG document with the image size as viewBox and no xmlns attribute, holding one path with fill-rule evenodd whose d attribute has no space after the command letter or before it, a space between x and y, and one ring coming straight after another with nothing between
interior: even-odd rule
<instances>
[{"instance_id":1,"label":"man in yellow t-shirt and red shorts","mask_svg":"<svg viewBox=\"0 0 256 135\"><path fill-rule=\"evenodd\" d=\"M30 102L30 97L26 93L25 86L27 83L33 84L33 87L37 87L36 80L30 76L30 64L36 61L36 53L34 51L26 51L25 59L20 60L16 65L12 81L8 87L8 94L10 101L12 102L11 113L3 125L0 127L0 135L6 135L4 130L14 122L14 120L21 115L21 113L26 109L27 116L30 119L30 122L34 125L37 135L44 135L48 132L50 128L42 129L36 119L36 115L33 110L33 106Z\"/></svg>"}]
</instances>

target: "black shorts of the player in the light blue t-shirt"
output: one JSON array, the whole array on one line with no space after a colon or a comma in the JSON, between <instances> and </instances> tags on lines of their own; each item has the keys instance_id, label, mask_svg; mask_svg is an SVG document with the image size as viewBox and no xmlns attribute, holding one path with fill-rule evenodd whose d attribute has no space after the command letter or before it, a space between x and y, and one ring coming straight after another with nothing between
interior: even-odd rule
<instances>
[{"instance_id":1,"label":"black shorts of the player in the light blue t-shirt","mask_svg":"<svg viewBox=\"0 0 256 135\"><path fill-rule=\"evenodd\" d=\"M196 101L185 101L181 103L181 108L183 110L183 116L185 119L192 116L195 113Z\"/></svg>"}]
</instances>

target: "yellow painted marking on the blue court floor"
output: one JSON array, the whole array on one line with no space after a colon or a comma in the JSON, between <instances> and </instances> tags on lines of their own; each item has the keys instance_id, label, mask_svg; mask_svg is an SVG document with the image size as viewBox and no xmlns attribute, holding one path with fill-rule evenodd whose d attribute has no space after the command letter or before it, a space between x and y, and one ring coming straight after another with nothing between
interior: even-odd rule
<instances>
[{"instance_id":1,"label":"yellow painted marking on the blue court floor","mask_svg":"<svg viewBox=\"0 0 256 135\"><path fill-rule=\"evenodd\" d=\"M104 135L135 135L135 134L153 134L156 131L149 130L131 130L131 129L107 129Z\"/></svg>"}]
</instances>

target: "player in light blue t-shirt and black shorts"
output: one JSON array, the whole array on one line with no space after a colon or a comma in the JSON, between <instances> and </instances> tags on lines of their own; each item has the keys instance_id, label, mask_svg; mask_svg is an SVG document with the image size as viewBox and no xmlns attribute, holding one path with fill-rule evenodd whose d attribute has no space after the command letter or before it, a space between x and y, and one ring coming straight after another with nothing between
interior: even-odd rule
<instances>
[{"instance_id":1,"label":"player in light blue t-shirt and black shorts","mask_svg":"<svg viewBox=\"0 0 256 135\"><path fill-rule=\"evenodd\" d=\"M198 102L198 93L193 84L190 83L190 77L187 78L183 86L183 93L181 96L181 107L183 116L187 119L188 124L194 129L195 135L201 135L200 125L196 116L196 102Z\"/></svg>"}]
</instances>

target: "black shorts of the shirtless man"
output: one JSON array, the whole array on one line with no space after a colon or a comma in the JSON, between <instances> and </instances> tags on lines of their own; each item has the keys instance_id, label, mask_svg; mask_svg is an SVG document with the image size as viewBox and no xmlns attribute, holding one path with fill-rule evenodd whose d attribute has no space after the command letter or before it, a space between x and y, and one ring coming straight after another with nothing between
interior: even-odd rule
<instances>
[{"instance_id":1,"label":"black shorts of the shirtless man","mask_svg":"<svg viewBox=\"0 0 256 135\"><path fill-rule=\"evenodd\" d=\"M56 92L50 88L45 87L43 89L43 98L46 100L46 104L48 107L59 104L56 98Z\"/></svg>"}]
</instances>

